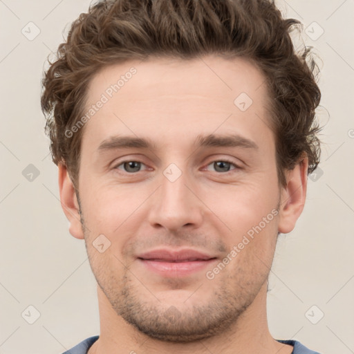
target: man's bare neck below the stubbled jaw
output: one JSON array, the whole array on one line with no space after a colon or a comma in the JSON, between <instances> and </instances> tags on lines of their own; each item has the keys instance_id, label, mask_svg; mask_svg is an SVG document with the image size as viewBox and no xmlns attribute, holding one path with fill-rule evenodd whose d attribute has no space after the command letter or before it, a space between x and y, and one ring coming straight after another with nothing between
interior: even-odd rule
<instances>
[{"instance_id":1,"label":"man's bare neck below the stubbled jaw","mask_svg":"<svg viewBox=\"0 0 354 354\"><path fill-rule=\"evenodd\" d=\"M221 335L196 342L162 342L140 333L138 329L115 313L109 300L97 286L100 308L100 338L88 354L290 354L292 346L272 338L266 315L267 284L264 283L252 304L239 316L237 322ZM207 314L205 314L207 316Z\"/></svg>"}]
</instances>

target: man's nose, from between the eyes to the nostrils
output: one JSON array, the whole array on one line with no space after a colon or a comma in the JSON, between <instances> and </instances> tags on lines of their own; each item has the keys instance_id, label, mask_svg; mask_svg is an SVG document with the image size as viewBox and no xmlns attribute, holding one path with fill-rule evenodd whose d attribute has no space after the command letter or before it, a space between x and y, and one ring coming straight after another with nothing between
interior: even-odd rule
<instances>
[{"instance_id":1,"label":"man's nose, from between the eyes to the nostrils","mask_svg":"<svg viewBox=\"0 0 354 354\"><path fill-rule=\"evenodd\" d=\"M150 225L175 232L181 227L200 227L204 205L198 197L196 184L184 172L176 180L165 172L167 174L161 176L161 185L151 199Z\"/></svg>"}]
</instances>

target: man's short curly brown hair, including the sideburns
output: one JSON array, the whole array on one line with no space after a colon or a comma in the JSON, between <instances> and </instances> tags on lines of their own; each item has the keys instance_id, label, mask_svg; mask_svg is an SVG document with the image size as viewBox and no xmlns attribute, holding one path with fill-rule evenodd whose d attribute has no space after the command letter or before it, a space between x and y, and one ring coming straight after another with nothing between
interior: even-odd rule
<instances>
[{"instance_id":1,"label":"man's short curly brown hair, including the sideburns","mask_svg":"<svg viewBox=\"0 0 354 354\"><path fill-rule=\"evenodd\" d=\"M77 187L80 143L65 131L84 113L89 82L104 66L148 57L243 57L263 75L270 95L279 185L284 171L308 156L308 174L320 156L315 109L321 93L311 47L295 50L290 37L302 28L283 19L274 0L102 0L73 21L67 40L42 80L53 162L63 163Z\"/></svg>"}]
</instances>

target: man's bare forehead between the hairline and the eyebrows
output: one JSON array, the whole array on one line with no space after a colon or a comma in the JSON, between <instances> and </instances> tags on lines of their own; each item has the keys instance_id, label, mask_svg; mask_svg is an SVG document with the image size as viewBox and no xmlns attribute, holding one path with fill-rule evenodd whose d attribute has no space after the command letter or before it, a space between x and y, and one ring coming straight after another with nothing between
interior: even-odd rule
<instances>
[{"instance_id":1,"label":"man's bare forehead between the hairline and the eyebrows","mask_svg":"<svg viewBox=\"0 0 354 354\"><path fill-rule=\"evenodd\" d=\"M166 146L216 130L266 140L268 98L264 75L239 57L150 58L106 66L88 86L85 113L93 114L86 114L82 145L97 149L109 136L129 134Z\"/></svg>"}]
</instances>

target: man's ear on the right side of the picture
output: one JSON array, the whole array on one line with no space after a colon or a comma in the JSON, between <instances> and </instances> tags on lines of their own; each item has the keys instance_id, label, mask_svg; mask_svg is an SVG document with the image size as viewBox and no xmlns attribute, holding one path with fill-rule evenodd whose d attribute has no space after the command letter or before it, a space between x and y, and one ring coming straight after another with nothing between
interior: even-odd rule
<instances>
[{"instance_id":1,"label":"man's ear on the right side of the picture","mask_svg":"<svg viewBox=\"0 0 354 354\"><path fill-rule=\"evenodd\" d=\"M281 187L278 231L288 234L304 209L307 189L308 157L303 156L294 169L286 171L286 187Z\"/></svg>"}]
</instances>

